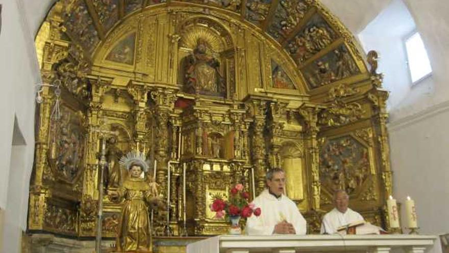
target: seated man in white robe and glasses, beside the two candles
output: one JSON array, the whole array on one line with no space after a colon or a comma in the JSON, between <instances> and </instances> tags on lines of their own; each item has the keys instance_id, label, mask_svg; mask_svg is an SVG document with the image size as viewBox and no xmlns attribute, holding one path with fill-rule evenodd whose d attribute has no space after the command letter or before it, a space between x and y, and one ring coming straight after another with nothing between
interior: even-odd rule
<instances>
[{"instance_id":1,"label":"seated man in white robe and glasses, beside the two candles","mask_svg":"<svg viewBox=\"0 0 449 253\"><path fill-rule=\"evenodd\" d=\"M363 221L363 217L348 208L349 195L343 190L334 193L335 208L323 217L321 223L321 234L335 234L337 228L351 223Z\"/></svg>"}]
</instances>

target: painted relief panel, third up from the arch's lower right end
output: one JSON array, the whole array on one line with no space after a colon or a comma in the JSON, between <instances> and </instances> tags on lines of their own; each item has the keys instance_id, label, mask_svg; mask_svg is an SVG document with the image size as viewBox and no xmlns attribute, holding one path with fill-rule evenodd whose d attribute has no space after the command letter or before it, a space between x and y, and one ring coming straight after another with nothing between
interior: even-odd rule
<instances>
[{"instance_id":1,"label":"painted relief panel, third up from the arch's lower right end","mask_svg":"<svg viewBox=\"0 0 449 253\"><path fill-rule=\"evenodd\" d=\"M269 25L268 34L276 39L288 37L310 7L304 0L281 0Z\"/></svg>"}]
</instances>

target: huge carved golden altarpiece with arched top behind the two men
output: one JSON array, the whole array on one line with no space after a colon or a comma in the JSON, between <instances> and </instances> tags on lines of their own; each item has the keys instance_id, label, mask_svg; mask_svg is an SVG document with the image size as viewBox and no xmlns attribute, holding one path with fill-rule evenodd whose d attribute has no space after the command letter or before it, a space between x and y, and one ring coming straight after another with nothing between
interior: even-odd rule
<instances>
[{"instance_id":1,"label":"huge carved golden altarpiece with arched top behind the two men","mask_svg":"<svg viewBox=\"0 0 449 253\"><path fill-rule=\"evenodd\" d=\"M117 188L130 150L156 164L170 205L168 219L154 213L155 236L226 233L212 197L236 182L257 195L270 167L285 169L309 233L336 189L388 227L388 93L376 53L362 55L318 1L61 0L36 47L44 82L61 94L44 87L37 109L31 233L94 237L98 182ZM109 166L98 178L102 142ZM112 238L120 204L105 196L103 213Z\"/></svg>"}]
</instances>

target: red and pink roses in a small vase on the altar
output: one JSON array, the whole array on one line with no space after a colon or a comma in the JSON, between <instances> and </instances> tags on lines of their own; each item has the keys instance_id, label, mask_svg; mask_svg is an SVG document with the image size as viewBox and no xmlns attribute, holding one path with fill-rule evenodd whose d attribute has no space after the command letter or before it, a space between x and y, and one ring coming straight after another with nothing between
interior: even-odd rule
<instances>
[{"instance_id":1,"label":"red and pink roses in a small vase on the altar","mask_svg":"<svg viewBox=\"0 0 449 253\"><path fill-rule=\"evenodd\" d=\"M260 215L260 208L255 208L253 203L248 203L249 198L250 193L245 192L243 185L238 183L231 189L228 201L217 197L212 202L210 208L215 212L215 218L221 219L226 216L231 221L229 234L240 235L242 233L238 224L240 218L248 218L253 214Z\"/></svg>"}]
</instances>

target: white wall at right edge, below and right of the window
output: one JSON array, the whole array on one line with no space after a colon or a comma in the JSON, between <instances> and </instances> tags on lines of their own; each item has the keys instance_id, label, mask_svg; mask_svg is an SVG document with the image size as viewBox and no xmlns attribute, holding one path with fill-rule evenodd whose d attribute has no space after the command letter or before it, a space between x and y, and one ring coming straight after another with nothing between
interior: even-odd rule
<instances>
[{"instance_id":1,"label":"white wall at right edge, below and right of the window","mask_svg":"<svg viewBox=\"0 0 449 253\"><path fill-rule=\"evenodd\" d=\"M404 0L426 44L433 76L392 109L394 192L417 203L423 233L447 233L449 221L449 2ZM423 92L430 86L430 93ZM424 89L424 90L421 90Z\"/></svg>"}]
</instances>

